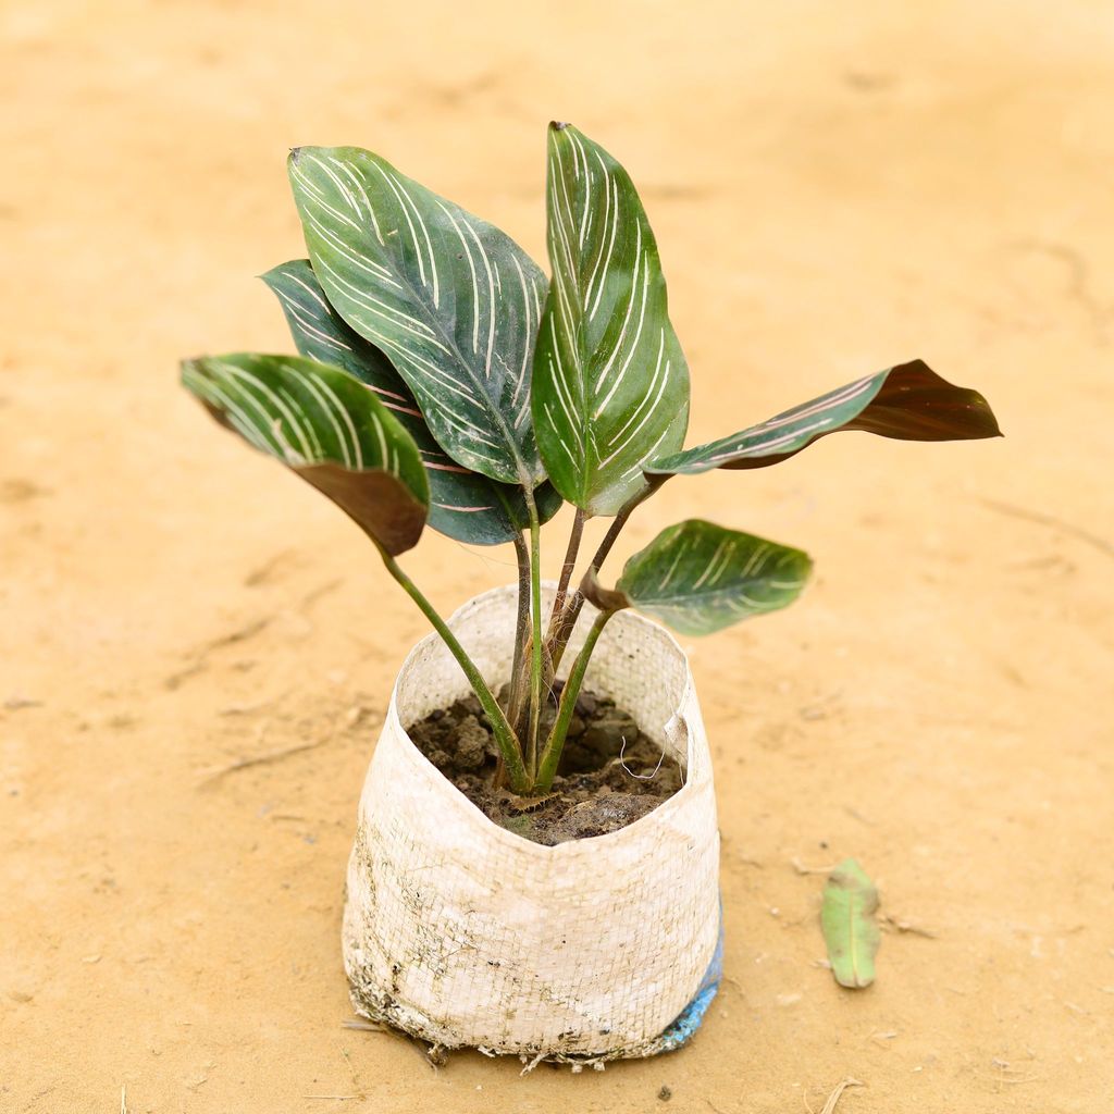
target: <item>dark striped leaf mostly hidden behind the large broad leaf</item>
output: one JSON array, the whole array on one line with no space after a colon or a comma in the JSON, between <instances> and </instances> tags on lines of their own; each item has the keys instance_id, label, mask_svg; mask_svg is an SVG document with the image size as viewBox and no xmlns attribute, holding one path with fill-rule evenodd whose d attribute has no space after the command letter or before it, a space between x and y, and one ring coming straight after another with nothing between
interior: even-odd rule
<instances>
[{"instance_id":1,"label":"dark striped leaf mostly hidden behind the large broad leaf","mask_svg":"<svg viewBox=\"0 0 1114 1114\"><path fill-rule=\"evenodd\" d=\"M529 526L522 489L499 483L452 460L430 432L418 402L390 360L350 329L329 304L309 260L292 260L263 275L282 305L302 355L343 368L367 383L414 439L429 480L429 525L468 545L510 541ZM535 491L546 522L561 498L549 483Z\"/></svg>"}]
</instances>

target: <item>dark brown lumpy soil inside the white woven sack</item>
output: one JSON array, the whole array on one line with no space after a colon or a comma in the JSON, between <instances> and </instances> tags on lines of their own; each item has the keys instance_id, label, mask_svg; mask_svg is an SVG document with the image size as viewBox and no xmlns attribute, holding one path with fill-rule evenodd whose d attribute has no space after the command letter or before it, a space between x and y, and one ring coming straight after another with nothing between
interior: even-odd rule
<instances>
[{"instance_id":1,"label":"dark brown lumpy soil inside the white woven sack","mask_svg":"<svg viewBox=\"0 0 1114 1114\"><path fill-rule=\"evenodd\" d=\"M543 720L543 737L553 722ZM684 784L681 768L615 702L582 693L553 790L517 797L495 784L499 751L475 696L407 729L414 744L483 813L508 831L553 847L617 831Z\"/></svg>"}]
</instances>

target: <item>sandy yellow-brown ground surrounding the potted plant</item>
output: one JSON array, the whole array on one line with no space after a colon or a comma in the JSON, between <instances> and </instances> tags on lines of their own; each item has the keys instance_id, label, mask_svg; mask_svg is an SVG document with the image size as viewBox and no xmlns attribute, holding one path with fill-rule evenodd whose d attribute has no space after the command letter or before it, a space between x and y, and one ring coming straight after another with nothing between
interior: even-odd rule
<instances>
[{"instance_id":1,"label":"sandy yellow-brown ground surrounding the potted plant","mask_svg":"<svg viewBox=\"0 0 1114 1114\"><path fill-rule=\"evenodd\" d=\"M0 28L0 1108L800 1114L846 1076L839 1114L1114 1108L1108 2L36 0ZM289 350L252 277L301 253L287 147L379 149L544 258L550 117L644 189L693 438L912 356L1008 436L833 438L636 517L627 550L700 514L819 577L692 645L729 932L704 1030L520 1079L342 1027L355 802L422 619L175 361ZM407 561L446 610L509 563ZM931 934L887 935L860 994L792 866L847 854Z\"/></svg>"}]
</instances>

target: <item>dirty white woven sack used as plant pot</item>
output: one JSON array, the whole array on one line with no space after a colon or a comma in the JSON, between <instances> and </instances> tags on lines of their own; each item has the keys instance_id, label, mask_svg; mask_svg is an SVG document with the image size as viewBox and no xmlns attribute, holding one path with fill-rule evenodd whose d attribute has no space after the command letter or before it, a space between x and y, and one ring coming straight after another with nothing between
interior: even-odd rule
<instances>
[{"instance_id":1,"label":"dirty white woven sack used as plant pot","mask_svg":"<svg viewBox=\"0 0 1114 1114\"><path fill-rule=\"evenodd\" d=\"M450 620L489 683L509 676L515 614L516 589L498 588ZM683 652L637 615L607 625L586 686L628 709L685 784L617 832L543 847L489 821L410 741L408 724L469 691L437 635L411 652L349 862L344 964L359 1013L441 1047L531 1058L663 1047L720 930L707 740Z\"/></svg>"}]
</instances>

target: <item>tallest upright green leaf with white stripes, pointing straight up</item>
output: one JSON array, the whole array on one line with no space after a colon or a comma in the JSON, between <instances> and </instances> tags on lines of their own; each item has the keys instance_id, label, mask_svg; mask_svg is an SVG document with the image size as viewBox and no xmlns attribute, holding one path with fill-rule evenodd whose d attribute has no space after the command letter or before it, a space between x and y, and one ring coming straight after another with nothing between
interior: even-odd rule
<instances>
[{"instance_id":1,"label":"tallest upright green leaf with white stripes, pointing straight up","mask_svg":"<svg viewBox=\"0 0 1114 1114\"><path fill-rule=\"evenodd\" d=\"M615 515L643 465L680 449L688 367L670 324L657 244L626 170L576 128L549 128L553 284L534 358L534 427L558 491Z\"/></svg>"}]
</instances>

